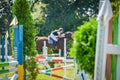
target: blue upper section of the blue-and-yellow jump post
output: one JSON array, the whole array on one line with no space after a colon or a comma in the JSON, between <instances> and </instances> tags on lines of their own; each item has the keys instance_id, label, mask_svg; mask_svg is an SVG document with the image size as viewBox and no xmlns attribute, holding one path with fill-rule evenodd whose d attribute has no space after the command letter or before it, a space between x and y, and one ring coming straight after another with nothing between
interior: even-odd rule
<instances>
[{"instance_id":1,"label":"blue upper section of the blue-and-yellow jump post","mask_svg":"<svg viewBox=\"0 0 120 80\"><path fill-rule=\"evenodd\" d=\"M14 27L15 60L23 64L23 25Z\"/></svg>"}]
</instances>

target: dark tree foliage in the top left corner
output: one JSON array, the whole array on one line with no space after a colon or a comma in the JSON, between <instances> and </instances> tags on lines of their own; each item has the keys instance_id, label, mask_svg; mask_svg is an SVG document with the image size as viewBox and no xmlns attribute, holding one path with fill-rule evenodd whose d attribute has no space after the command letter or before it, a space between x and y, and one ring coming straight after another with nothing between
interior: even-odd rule
<instances>
[{"instance_id":1,"label":"dark tree foliage in the top left corner","mask_svg":"<svg viewBox=\"0 0 120 80\"><path fill-rule=\"evenodd\" d=\"M0 34L5 34L9 29L12 19L11 13L12 0L0 0Z\"/></svg>"}]
</instances>

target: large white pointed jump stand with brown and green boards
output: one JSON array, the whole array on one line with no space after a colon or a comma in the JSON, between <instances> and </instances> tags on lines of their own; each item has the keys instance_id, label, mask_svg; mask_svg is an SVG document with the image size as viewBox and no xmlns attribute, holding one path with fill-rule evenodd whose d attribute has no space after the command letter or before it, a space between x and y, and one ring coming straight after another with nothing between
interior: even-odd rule
<instances>
[{"instance_id":1,"label":"large white pointed jump stand with brown and green boards","mask_svg":"<svg viewBox=\"0 0 120 80\"><path fill-rule=\"evenodd\" d=\"M109 9L108 9L109 8ZM106 11L106 12L104 12ZM101 13L101 14L100 14ZM107 17L106 17L107 16ZM95 57L95 72L94 80L120 80L120 6L118 23L114 22L112 28L112 8L109 0L104 0L98 15L98 33L96 44L96 57ZM107 19L107 20L106 20ZM117 20L116 20L117 21ZM118 25L118 26L117 26ZM114 29L114 34L112 33ZM112 34L114 36L112 36ZM112 40L114 39L114 44ZM109 54L109 56L108 56ZM114 72L111 73L110 55L117 55L117 62L113 64ZM107 60L107 58L110 58ZM107 64L107 65L106 65ZM107 75L105 75L105 73ZM113 74L114 73L114 74ZM112 74L112 77L111 77Z\"/></svg>"}]
</instances>

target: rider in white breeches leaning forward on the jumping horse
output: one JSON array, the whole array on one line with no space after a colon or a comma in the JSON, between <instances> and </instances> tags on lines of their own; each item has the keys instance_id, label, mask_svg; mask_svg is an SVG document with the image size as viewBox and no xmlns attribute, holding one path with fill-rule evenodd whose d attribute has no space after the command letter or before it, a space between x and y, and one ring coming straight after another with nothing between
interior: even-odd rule
<instances>
[{"instance_id":1,"label":"rider in white breeches leaning forward on the jumping horse","mask_svg":"<svg viewBox=\"0 0 120 80\"><path fill-rule=\"evenodd\" d=\"M59 29L51 32L50 39L52 39L54 41L54 43L53 43L54 47L55 47L56 43L58 42L58 39L61 37L64 37L64 35L62 35L62 33L63 33L63 28L59 28Z\"/></svg>"}]
</instances>

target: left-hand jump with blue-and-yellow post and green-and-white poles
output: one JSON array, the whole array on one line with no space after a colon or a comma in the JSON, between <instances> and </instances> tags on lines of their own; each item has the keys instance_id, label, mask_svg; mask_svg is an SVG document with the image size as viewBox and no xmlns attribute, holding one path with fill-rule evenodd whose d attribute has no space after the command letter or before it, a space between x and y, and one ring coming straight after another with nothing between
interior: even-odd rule
<instances>
[{"instance_id":1,"label":"left-hand jump with blue-and-yellow post and green-and-white poles","mask_svg":"<svg viewBox=\"0 0 120 80\"><path fill-rule=\"evenodd\" d=\"M0 60L0 74L15 72L15 74L10 78L10 80L23 80L24 70L23 70L23 26L14 26L14 60L9 61L8 49L7 49L7 38L8 32L1 39L1 60ZM6 68L12 66L14 68ZM8 80L6 74L5 80Z\"/></svg>"}]
</instances>

